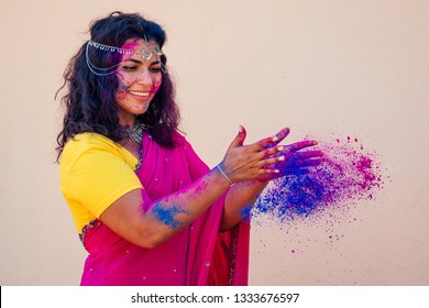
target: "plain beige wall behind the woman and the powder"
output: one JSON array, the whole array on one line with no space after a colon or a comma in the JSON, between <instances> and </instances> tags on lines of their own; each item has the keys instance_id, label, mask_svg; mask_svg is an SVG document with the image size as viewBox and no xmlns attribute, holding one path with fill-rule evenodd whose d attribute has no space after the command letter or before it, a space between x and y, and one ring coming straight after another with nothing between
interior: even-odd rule
<instances>
[{"instance_id":1,"label":"plain beige wall behind the woman and the powder","mask_svg":"<svg viewBox=\"0 0 429 308\"><path fill-rule=\"evenodd\" d=\"M58 190L54 92L90 20L160 21L183 129L213 166L237 133L355 134L391 176L328 244L323 224L252 231L253 285L429 284L426 0L3 1L1 285L76 285L85 253ZM290 253L297 237L307 240Z\"/></svg>"}]
</instances>

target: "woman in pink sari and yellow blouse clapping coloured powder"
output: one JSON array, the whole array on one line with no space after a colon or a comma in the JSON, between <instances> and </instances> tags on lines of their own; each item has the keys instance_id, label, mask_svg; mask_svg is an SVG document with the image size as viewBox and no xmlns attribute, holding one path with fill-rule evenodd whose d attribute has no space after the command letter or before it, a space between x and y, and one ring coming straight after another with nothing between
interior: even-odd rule
<instances>
[{"instance_id":1,"label":"woman in pink sari and yellow blouse clapping coloured powder","mask_svg":"<svg viewBox=\"0 0 429 308\"><path fill-rule=\"evenodd\" d=\"M81 285L245 285L249 222L268 180L316 164L316 142L243 145L210 169L177 132L164 30L113 12L65 72L61 188L88 251Z\"/></svg>"}]
</instances>

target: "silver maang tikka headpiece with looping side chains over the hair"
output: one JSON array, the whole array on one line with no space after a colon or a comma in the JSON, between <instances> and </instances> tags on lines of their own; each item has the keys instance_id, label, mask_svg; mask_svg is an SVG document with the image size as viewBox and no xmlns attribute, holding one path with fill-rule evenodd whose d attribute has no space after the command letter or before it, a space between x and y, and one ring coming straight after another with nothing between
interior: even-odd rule
<instances>
[{"instance_id":1,"label":"silver maang tikka headpiece with looping side chains over the hair","mask_svg":"<svg viewBox=\"0 0 429 308\"><path fill-rule=\"evenodd\" d=\"M151 47L147 40L144 38L144 47L140 51L121 48L116 46L103 45L97 42L89 40L86 46L86 62L88 68L98 76L108 76L113 73L117 73L119 65L123 56L131 56L132 54L141 53L142 58L147 63L153 56L157 58L161 63L161 69L165 73L165 67L162 64L161 56L163 55L162 50L156 47ZM110 53L110 56L106 56L106 53ZM118 64L110 65L108 62L116 61L118 57Z\"/></svg>"}]
</instances>

